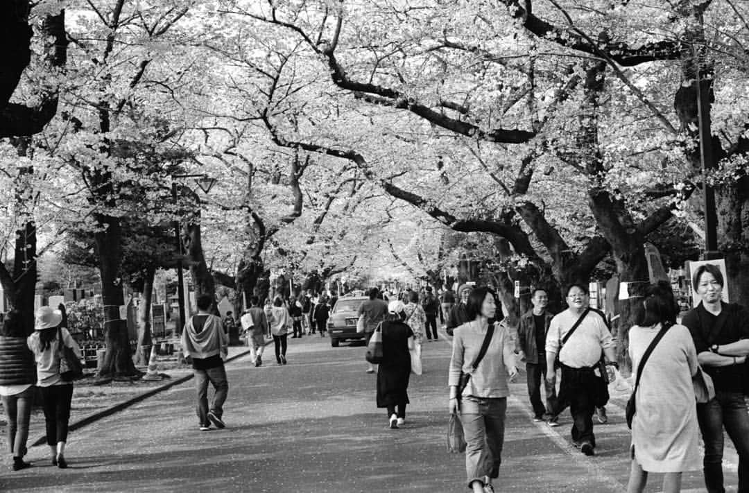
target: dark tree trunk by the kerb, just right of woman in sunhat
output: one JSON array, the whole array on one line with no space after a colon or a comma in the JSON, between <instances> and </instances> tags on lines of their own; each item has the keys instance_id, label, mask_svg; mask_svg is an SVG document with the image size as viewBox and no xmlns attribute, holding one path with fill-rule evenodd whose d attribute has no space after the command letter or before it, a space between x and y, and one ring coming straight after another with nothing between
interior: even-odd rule
<instances>
[{"instance_id":1,"label":"dark tree trunk by the kerb, just right of woman in sunhat","mask_svg":"<svg viewBox=\"0 0 749 493\"><path fill-rule=\"evenodd\" d=\"M103 231L94 233L94 242L99 258L101 296L104 304L104 339L106 354L100 367L100 375L132 376L140 372L133 364L127 320L120 318L120 306L124 305L122 292L122 232L116 217L97 214L97 222Z\"/></svg>"}]
</instances>

